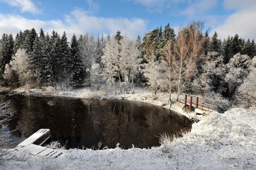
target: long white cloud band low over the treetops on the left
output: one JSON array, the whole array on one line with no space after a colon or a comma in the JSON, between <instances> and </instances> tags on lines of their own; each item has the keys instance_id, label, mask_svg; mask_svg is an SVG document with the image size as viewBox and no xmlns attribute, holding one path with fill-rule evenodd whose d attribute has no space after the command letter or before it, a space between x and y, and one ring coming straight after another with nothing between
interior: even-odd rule
<instances>
[{"instance_id":1,"label":"long white cloud band low over the treetops on the left","mask_svg":"<svg viewBox=\"0 0 256 170\"><path fill-rule=\"evenodd\" d=\"M142 35L146 30L146 22L141 18L104 18L91 16L87 11L74 10L65 16L65 21L52 20L40 21L30 20L23 16L5 15L0 13L0 33L13 33L16 35L20 30L43 28L45 32L51 33L56 30L62 34L66 31L69 38L73 33L76 35L84 33L97 34L115 34L121 30L123 35L130 38L136 38Z\"/></svg>"}]
</instances>

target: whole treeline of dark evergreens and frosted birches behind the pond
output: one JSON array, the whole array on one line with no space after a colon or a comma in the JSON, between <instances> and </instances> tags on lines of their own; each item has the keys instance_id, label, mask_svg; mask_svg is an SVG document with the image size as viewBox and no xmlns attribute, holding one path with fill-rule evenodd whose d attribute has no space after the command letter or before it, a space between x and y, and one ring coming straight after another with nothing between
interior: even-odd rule
<instances>
[{"instance_id":1,"label":"whole treeline of dark evergreens and frosted birches behind the pond","mask_svg":"<svg viewBox=\"0 0 256 170\"><path fill-rule=\"evenodd\" d=\"M179 29L167 24L145 33L143 40L88 33L73 35L55 30L20 31L16 38L3 34L0 40L1 86L55 89L103 84L114 91L130 93L142 84L171 94L189 93L228 98L247 106L256 99L256 45L238 34L221 40L203 33L204 24L194 22Z\"/></svg>"}]
</instances>

